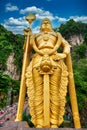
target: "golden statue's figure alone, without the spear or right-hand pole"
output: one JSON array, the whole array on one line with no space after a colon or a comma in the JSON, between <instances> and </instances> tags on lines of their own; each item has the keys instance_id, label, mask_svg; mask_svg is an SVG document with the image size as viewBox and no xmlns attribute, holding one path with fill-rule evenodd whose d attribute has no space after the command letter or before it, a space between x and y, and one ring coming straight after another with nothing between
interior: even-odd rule
<instances>
[{"instance_id":1,"label":"golden statue's figure alone, without the spear or right-hand pole","mask_svg":"<svg viewBox=\"0 0 87 130\"><path fill-rule=\"evenodd\" d=\"M65 113L68 85L65 59L70 45L60 33L53 31L48 18L43 19L40 32L31 35L29 44L35 51L26 70L32 122L36 128L57 128ZM63 51L58 53L60 47Z\"/></svg>"}]
</instances>

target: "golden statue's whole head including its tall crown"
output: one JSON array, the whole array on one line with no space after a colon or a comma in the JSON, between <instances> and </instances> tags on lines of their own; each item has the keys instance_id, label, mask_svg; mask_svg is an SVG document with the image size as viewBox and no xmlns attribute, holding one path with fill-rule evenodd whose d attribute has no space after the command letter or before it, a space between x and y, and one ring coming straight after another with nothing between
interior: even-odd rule
<instances>
[{"instance_id":1,"label":"golden statue's whole head including its tall crown","mask_svg":"<svg viewBox=\"0 0 87 130\"><path fill-rule=\"evenodd\" d=\"M51 21L48 18L44 18L41 23L40 31L53 31Z\"/></svg>"}]
</instances>

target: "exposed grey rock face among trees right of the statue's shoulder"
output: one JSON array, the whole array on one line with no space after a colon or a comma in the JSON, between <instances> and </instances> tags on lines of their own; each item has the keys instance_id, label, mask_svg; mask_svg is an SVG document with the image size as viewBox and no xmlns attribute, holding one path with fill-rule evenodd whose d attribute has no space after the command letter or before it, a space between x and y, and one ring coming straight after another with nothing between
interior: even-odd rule
<instances>
[{"instance_id":1,"label":"exposed grey rock face among trees right of the statue's shoulder","mask_svg":"<svg viewBox=\"0 0 87 130\"><path fill-rule=\"evenodd\" d=\"M82 34L79 35L72 35L70 36L70 38L68 39L68 42L72 45L72 46L77 46L82 44L84 41Z\"/></svg>"}]
</instances>

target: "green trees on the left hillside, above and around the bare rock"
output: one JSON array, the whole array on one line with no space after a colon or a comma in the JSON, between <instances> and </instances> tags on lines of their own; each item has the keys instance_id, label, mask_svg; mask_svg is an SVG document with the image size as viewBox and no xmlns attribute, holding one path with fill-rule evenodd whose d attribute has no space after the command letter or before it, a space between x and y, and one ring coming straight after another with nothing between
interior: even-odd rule
<instances>
[{"instance_id":1,"label":"green trees on the left hillside, above and around the bare rock","mask_svg":"<svg viewBox=\"0 0 87 130\"><path fill-rule=\"evenodd\" d=\"M10 53L15 53L15 64L17 69L21 71L24 36L21 34L14 35L0 25L0 64L1 70L6 69L6 61Z\"/></svg>"}]
</instances>

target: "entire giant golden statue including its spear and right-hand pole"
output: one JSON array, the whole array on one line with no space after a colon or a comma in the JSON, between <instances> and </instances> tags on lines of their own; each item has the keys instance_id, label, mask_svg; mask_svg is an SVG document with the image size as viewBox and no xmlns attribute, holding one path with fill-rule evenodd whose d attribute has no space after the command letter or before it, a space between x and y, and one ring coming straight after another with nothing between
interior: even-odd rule
<instances>
[{"instance_id":1,"label":"entire giant golden statue including its spear and right-hand pole","mask_svg":"<svg viewBox=\"0 0 87 130\"><path fill-rule=\"evenodd\" d=\"M31 23L35 17L29 15L26 19ZM80 128L69 43L60 33L53 31L48 18L43 19L38 34L32 34L28 28L25 35L27 39L24 44L24 64L16 121L22 120L27 87L30 114L35 127L58 128L63 122L69 85L75 128ZM57 52L60 47L63 49L62 53ZM32 49L36 53L29 63Z\"/></svg>"}]
</instances>

